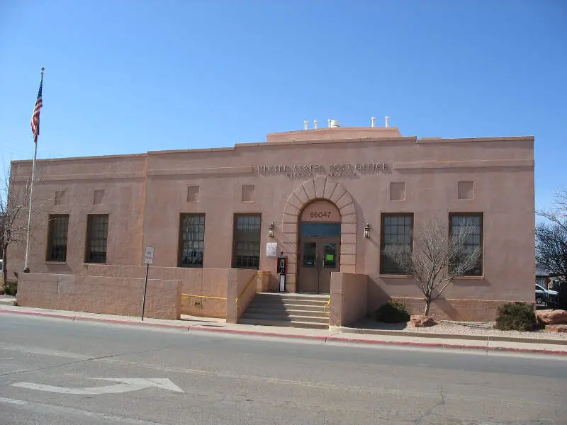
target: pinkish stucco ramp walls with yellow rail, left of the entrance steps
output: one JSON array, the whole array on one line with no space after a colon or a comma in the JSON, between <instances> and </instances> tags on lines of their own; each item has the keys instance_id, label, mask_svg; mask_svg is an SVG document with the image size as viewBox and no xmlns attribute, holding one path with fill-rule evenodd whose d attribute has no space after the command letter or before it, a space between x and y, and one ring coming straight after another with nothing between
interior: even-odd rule
<instances>
[{"instance_id":1,"label":"pinkish stucco ramp walls with yellow rail, left of the entrance steps","mask_svg":"<svg viewBox=\"0 0 567 425\"><path fill-rule=\"evenodd\" d=\"M21 273L18 305L100 314L142 315L145 267L89 265L90 275ZM269 273L235 268L152 267L145 317L181 314L226 318L236 323ZM183 297L181 296L183 294Z\"/></svg>"}]
</instances>

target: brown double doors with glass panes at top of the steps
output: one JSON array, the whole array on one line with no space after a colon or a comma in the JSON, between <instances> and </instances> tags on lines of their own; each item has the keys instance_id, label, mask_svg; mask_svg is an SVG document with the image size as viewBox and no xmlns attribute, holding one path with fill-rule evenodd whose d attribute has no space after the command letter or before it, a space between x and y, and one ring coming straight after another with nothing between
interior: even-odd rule
<instances>
[{"instance_id":1,"label":"brown double doors with glass panes at top of the steps","mask_svg":"<svg viewBox=\"0 0 567 425\"><path fill-rule=\"evenodd\" d=\"M340 268L340 237L302 237L298 258L298 292L328 294L331 272Z\"/></svg>"}]
</instances>

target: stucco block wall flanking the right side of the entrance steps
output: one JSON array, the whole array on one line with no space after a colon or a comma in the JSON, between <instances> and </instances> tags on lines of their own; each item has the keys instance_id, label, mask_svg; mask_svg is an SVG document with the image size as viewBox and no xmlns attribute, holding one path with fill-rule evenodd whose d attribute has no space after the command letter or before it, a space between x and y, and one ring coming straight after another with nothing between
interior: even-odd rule
<instances>
[{"instance_id":1,"label":"stucco block wall flanking the right side of the entrance steps","mask_svg":"<svg viewBox=\"0 0 567 425\"><path fill-rule=\"evenodd\" d=\"M368 276L331 273L330 326L347 326L368 312Z\"/></svg>"}]
</instances>

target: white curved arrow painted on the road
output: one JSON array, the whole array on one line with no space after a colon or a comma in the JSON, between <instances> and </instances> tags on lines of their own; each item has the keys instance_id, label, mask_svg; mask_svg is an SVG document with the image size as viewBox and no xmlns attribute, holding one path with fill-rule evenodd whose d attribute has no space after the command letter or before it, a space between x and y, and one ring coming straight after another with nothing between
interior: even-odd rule
<instances>
[{"instance_id":1,"label":"white curved arrow painted on the road","mask_svg":"<svg viewBox=\"0 0 567 425\"><path fill-rule=\"evenodd\" d=\"M12 387L27 388L28 390L39 390L47 392L57 392L58 394L71 394L71 395L100 395L100 394L115 394L118 392L130 392L143 390L149 387L158 387L164 390L174 392L184 392L167 378L95 378L99 380L110 380L120 382L120 384L106 385L106 387L86 387L86 388L73 388L73 387L55 387L53 385L36 384L34 382L16 382L11 384Z\"/></svg>"}]
</instances>

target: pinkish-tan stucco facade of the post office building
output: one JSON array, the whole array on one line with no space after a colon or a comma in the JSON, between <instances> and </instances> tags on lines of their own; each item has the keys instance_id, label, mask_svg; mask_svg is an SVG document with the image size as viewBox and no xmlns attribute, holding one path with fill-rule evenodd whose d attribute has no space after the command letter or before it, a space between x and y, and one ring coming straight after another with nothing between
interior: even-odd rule
<instances>
[{"instance_id":1,"label":"pinkish-tan stucco facade of the post office building","mask_svg":"<svg viewBox=\"0 0 567 425\"><path fill-rule=\"evenodd\" d=\"M412 279L378 272L382 212L413 212L415 227L432 217L448 220L449 212L483 212L484 275L457 280L444 296L450 300L532 301L533 137L420 140L393 135L397 129L355 130L279 133L271 135L269 143L223 149L40 161L38 176L42 177L34 197L38 204L43 200L43 205L33 216L31 271L86 274L86 269L92 269L84 265L86 214L91 212L110 214L109 265L142 266L143 245L150 244L155 246L156 270L176 268L179 215L198 212L206 214L203 267L230 268L233 215L254 212L262 213L259 268L275 273L276 259L266 257L266 242L278 242L278 250L290 260L288 290L293 292L298 215L311 200L330 199L341 213L341 271L369 276L369 311L387 297L420 297ZM368 162L385 163L386 169L355 176L330 176L328 172L330 164ZM293 169L298 164L321 164L325 171L297 179L258 172L258 166ZM12 173L19 184L25 184L30 165L13 162ZM459 199L459 181L474 182L473 199ZM391 200L390 185L399 182L405 183L405 198ZM242 185L254 186L254 200L242 201ZM188 186L200 186L198 202L188 202ZM98 189L106 191L105 198L101 205L92 205ZM63 205L54 205L59 190L67 191L66 198ZM64 264L45 262L47 215L57 212L70 212ZM274 238L266 235L271 222ZM363 237L366 222L371 227L368 239ZM23 244L9 249L9 277L13 271L21 274L23 251ZM183 273L198 276L199 271ZM181 280L184 291L196 290L191 285L207 291L222 279ZM269 288L276 290L275 277Z\"/></svg>"}]
</instances>

